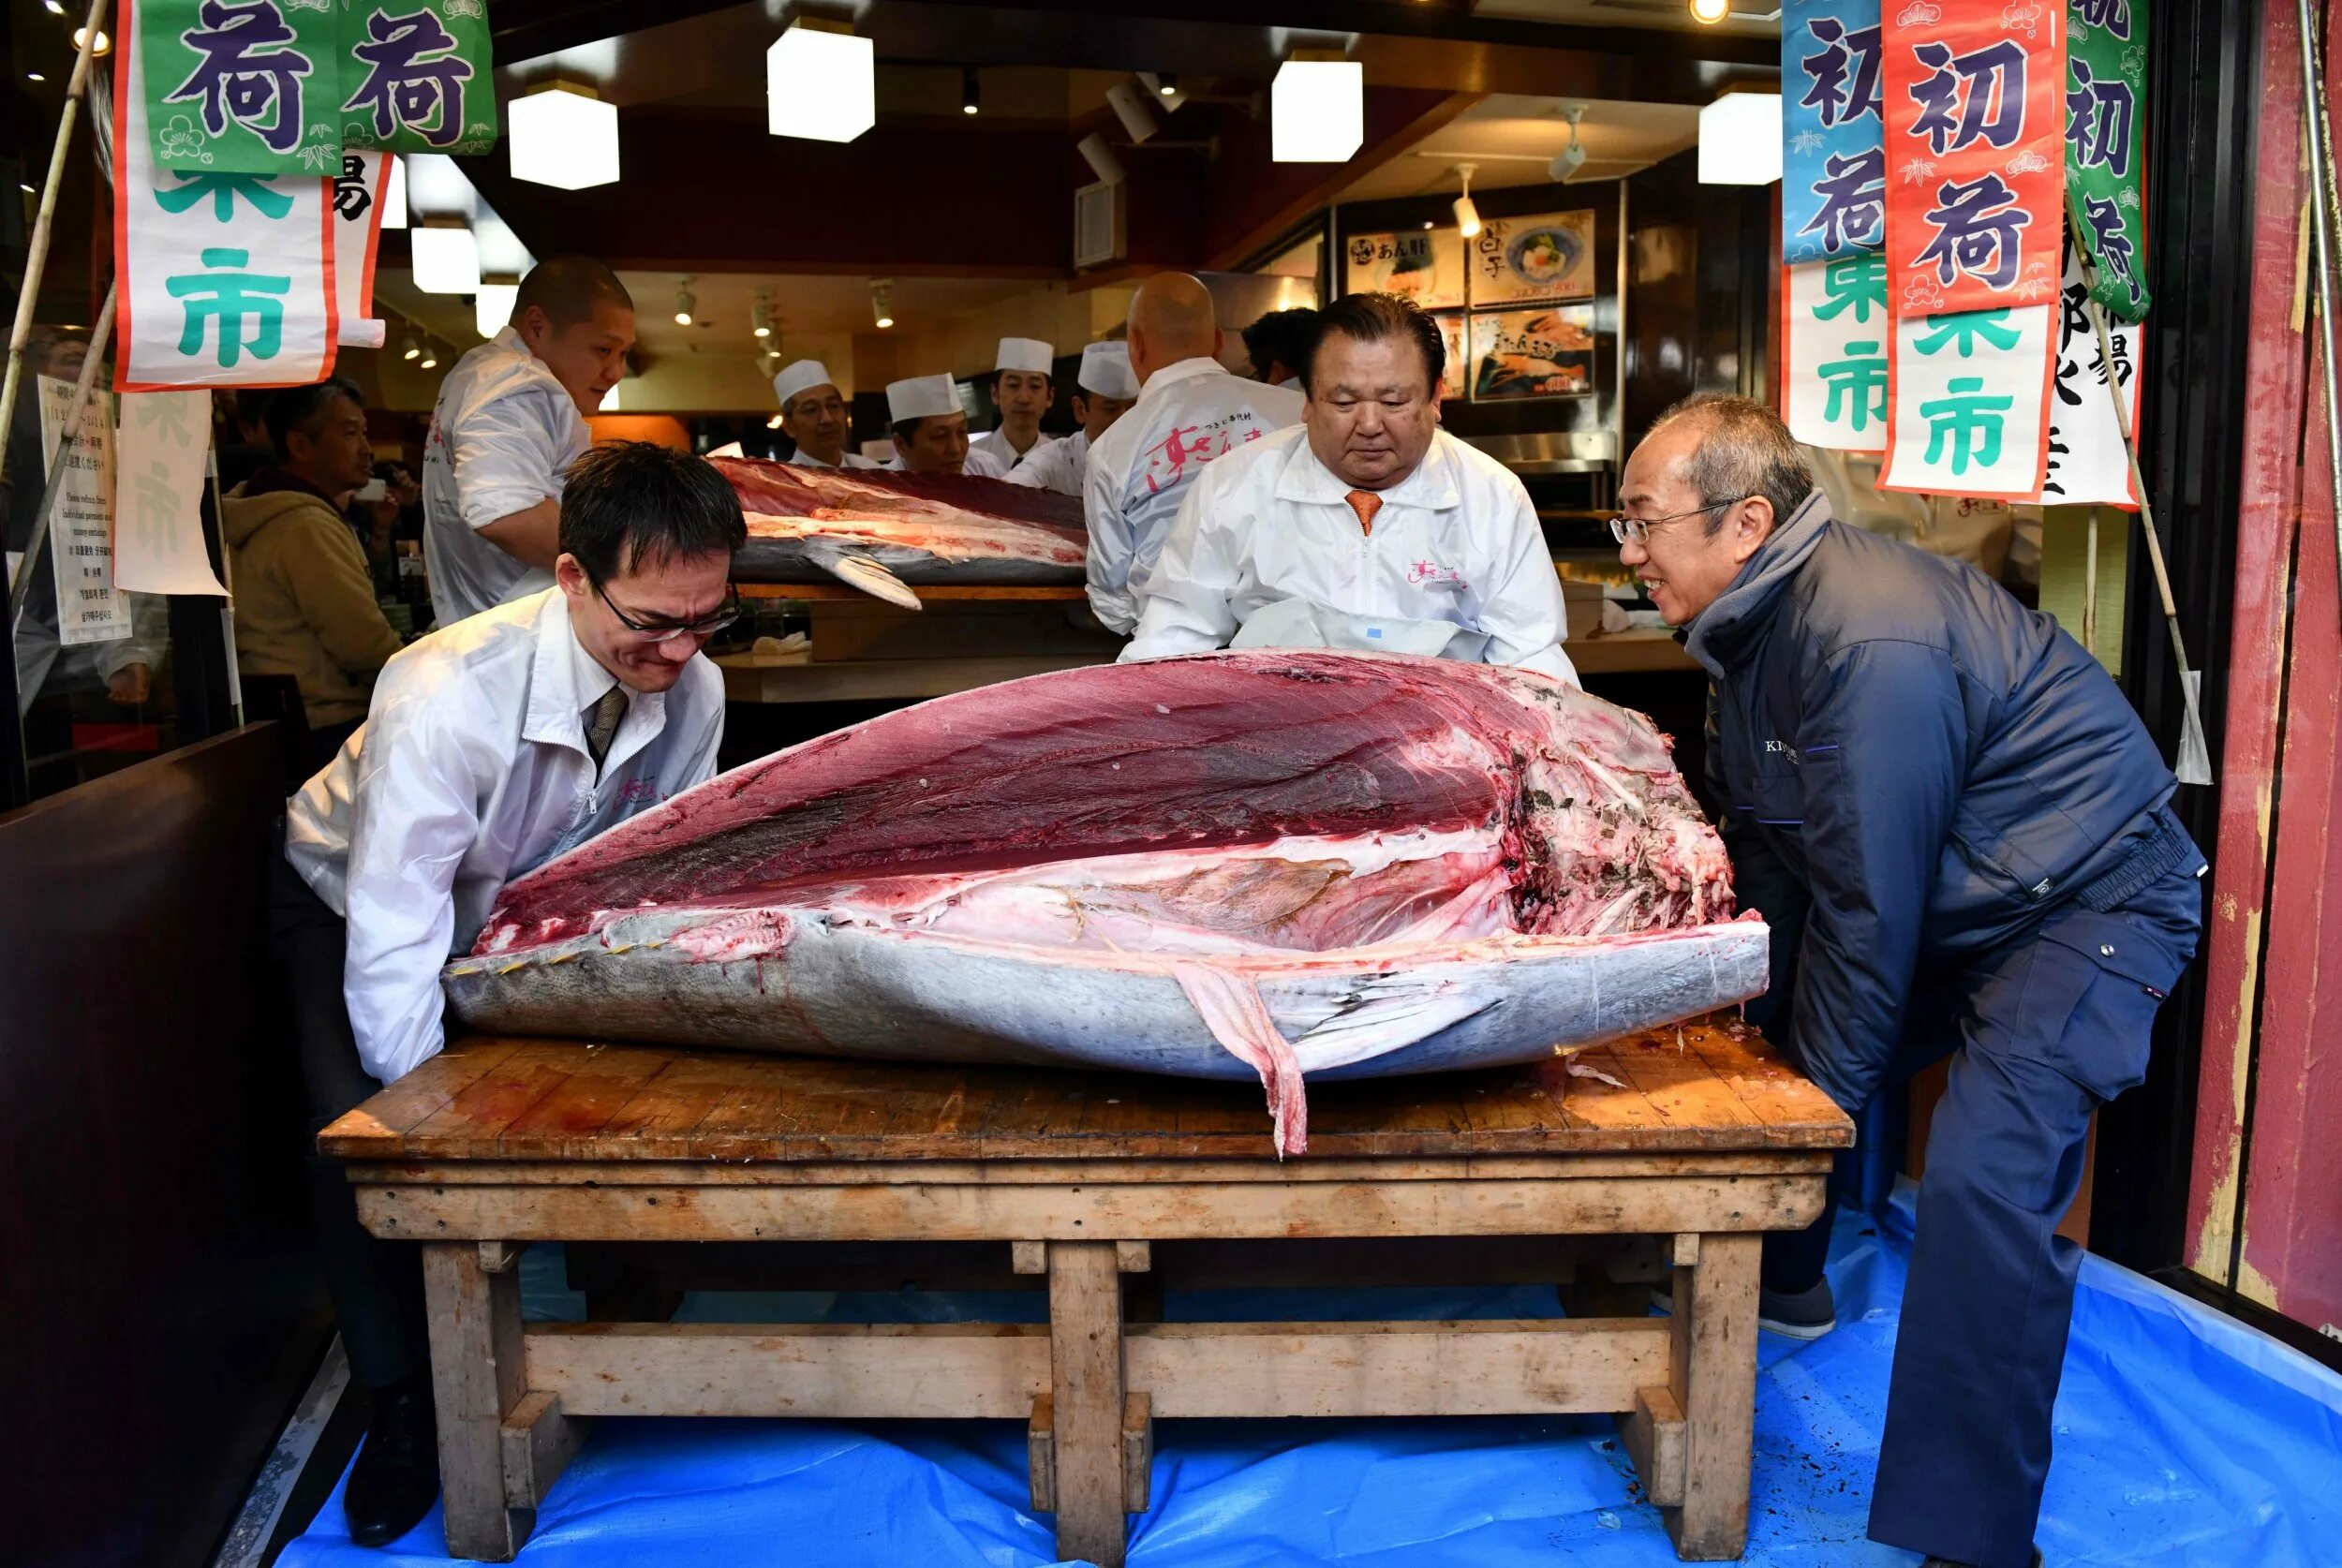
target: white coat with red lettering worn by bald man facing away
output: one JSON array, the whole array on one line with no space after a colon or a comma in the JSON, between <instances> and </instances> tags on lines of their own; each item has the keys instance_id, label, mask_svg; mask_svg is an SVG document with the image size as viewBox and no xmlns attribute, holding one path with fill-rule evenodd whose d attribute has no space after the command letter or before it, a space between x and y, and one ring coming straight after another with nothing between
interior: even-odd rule
<instances>
[{"instance_id":1,"label":"white coat with red lettering worn by bald man facing away","mask_svg":"<svg viewBox=\"0 0 2342 1568\"><path fill-rule=\"evenodd\" d=\"M1192 358L1148 377L1138 403L1089 449L1089 608L1129 637L1136 585L1162 555L1187 482L1213 459L1302 419L1302 396Z\"/></svg>"}]
</instances>

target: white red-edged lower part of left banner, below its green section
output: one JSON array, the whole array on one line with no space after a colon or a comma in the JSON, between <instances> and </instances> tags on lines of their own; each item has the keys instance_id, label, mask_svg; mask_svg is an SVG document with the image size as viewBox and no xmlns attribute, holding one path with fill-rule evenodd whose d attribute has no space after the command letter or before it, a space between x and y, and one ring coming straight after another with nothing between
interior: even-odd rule
<instances>
[{"instance_id":1,"label":"white red-edged lower part of left banner, below its green section","mask_svg":"<svg viewBox=\"0 0 2342 1568\"><path fill-rule=\"evenodd\" d=\"M155 164L136 7L115 51L115 391L309 386L340 337L328 178Z\"/></svg>"}]
</instances>

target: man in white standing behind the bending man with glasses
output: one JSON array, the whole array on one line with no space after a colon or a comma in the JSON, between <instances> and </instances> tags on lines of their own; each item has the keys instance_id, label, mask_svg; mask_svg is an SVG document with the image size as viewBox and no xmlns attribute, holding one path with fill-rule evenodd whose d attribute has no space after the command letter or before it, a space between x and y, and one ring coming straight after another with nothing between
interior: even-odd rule
<instances>
[{"instance_id":1,"label":"man in white standing behind the bending man with glasses","mask_svg":"<svg viewBox=\"0 0 2342 1568\"><path fill-rule=\"evenodd\" d=\"M454 625L553 587L562 475L586 417L625 374L635 302L602 262L557 255L520 281L513 321L440 381L424 440L424 571Z\"/></svg>"}]
</instances>

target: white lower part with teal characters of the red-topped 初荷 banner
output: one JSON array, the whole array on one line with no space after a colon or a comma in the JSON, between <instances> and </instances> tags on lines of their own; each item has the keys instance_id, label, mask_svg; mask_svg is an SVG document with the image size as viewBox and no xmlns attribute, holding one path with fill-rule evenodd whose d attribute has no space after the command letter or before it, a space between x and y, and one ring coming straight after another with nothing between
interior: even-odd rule
<instances>
[{"instance_id":1,"label":"white lower part with teal characters of the red-topped \u521d\u8377 banner","mask_svg":"<svg viewBox=\"0 0 2342 1568\"><path fill-rule=\"evenodd\" d=\"M2042 487L2056 307L1895 323L1878 489L2031 501Z\"/></svg>"}]
</instances>

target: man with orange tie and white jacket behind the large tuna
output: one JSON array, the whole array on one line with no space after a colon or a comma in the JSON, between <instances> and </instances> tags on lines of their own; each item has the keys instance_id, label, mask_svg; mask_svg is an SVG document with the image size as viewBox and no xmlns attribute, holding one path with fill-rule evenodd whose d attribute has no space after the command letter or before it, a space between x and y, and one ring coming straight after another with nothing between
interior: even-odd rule
<instances>
[{"instance_id":1,"label":"man with orange tie and white jacket behind the large tuna","mask_svg":"<svg viewBox=\"0 0 2342 1568\"><path fill-rule=\"evenodd\" d=\"M1576 683L1529 491L1440 431L1445 351L1410 300L1335 300L1302 365L1304 424L1187 489L1138 585L1138 632L1122 658L1358 648L1525 665Z\"/></svg>"}]
</instances>

